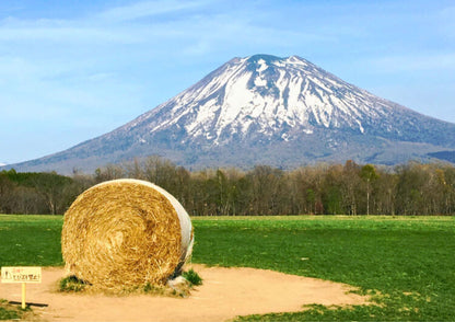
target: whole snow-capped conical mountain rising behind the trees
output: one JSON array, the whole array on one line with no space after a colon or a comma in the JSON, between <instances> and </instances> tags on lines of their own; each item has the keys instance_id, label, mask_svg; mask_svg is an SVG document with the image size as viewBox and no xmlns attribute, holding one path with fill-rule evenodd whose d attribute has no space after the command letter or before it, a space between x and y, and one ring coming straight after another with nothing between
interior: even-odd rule
<instances>
[{"instance_id":1,"label":"whole snow-capped conical mountain rising behind the trees","mask_svg":"<svg viewBox=\"0 0 455 322\"><path fill-rule=\"evenodd\" d=\"M19 165L93 170L150 154L191 168L395 164L453 150L454 124L377 97L298 56L255 55L228 61L109 134Z\"/></svg>"}]
</instances>

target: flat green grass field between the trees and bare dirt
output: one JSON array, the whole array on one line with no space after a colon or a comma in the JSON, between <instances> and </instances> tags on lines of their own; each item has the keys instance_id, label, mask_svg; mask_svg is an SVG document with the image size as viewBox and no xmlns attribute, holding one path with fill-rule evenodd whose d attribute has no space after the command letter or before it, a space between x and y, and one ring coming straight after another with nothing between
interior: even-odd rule
<instances>
[{"instance_id":1,"label":"flat green grass field between the trees and bare dirt","mask_svg":"<svg viewBox=\"0 0 455 322\"><path fill-rule=\"evenodd\" d=\"M376 302L240 321L455 321L454 217L196 217L192 222L194 263L347 283ZM61 265L61 225L62 217L1 215L0 265Z\"/></svg>"}]
</instances>

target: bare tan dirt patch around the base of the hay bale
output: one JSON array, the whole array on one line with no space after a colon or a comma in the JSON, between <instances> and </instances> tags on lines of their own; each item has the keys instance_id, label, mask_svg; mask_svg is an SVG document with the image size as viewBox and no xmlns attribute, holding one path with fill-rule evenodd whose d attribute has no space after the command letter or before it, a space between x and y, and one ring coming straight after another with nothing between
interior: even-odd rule
<instances>
[{"instance_id":1,"label":"bare tan dirt patch around the base of the hay bale","mask_svg":"<svg viewBox=\"0 0 455 322\"><path fill-rule=\"evenodd\" d=\"M302 306L349 306L366 303L365 297L349 292L343 284L254 268L192 265L203 278L188 298L149 295L115 297L61 294L62 268L44 268L43 283L27 285L27 302L47 321L225 321L237 315L294 312ZM21 286L0 284L0 299L21 300Z\"/></svg>"}]
</instances>

